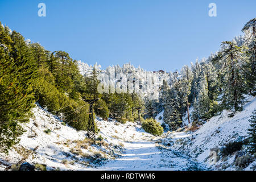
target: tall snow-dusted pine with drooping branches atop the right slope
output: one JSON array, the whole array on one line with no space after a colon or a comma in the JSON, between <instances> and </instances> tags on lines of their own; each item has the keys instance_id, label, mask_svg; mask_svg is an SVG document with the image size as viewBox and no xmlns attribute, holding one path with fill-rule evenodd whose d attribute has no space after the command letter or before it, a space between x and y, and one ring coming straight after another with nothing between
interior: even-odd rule
<instances>
[{"instance_id":1,"label":"tall snow-dusted pine with drooping branches atop the right slope","mask_svg":"<svg viewBox=\"0 0 256 182\"><path fill-rule=\"evenodd\" d=\"M246 85L243 78L242 64L247 57L243 52L244 47L238 47L232 42L222 42L222 50L217 56L220 72L223 74L223 90L221 104L226 109L241 110L245 103Z\"/></svg>"}]
</instances>

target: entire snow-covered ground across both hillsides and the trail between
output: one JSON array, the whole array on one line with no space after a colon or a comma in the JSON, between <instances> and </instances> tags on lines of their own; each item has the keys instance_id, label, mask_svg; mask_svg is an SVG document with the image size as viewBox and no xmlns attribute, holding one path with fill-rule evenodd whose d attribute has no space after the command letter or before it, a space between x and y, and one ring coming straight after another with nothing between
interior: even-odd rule
<instances>
[{"instance_id":1,"label":"entire snow-covered ground across both hillsides and the trail between","mask_svg":"<svg viewBox=\"0 0 256 182\"><path fill-rule=\"evenodd\" d=\"M134 122L121 124L96 118L100 129L97 137L101 140L93 143L86 140L86 131L64 125L36 105L30 123L23 124L27 131L19 144L8 155L0 153L0 170L11 170L24 162L47 170L237 170L234 161L245 153L245 147L226 157L220 149L228 142L247 137L248 119L255 106L256 98L251 97L244 110L233 117L228 117L231 111L224 110L195 132L184 128L160 137L146 133ZM163 112L156 116L160 123L162 115ZM209 157L213 151L216 162ZM245 170L255 166L254 160Z\"/></svg>"}]
</instances>

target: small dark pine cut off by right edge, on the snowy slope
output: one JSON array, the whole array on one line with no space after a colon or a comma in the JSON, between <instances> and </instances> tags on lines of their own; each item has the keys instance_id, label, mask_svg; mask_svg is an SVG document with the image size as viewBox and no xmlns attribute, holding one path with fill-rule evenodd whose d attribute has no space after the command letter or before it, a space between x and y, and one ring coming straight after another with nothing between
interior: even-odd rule
<instances>
[{"instance_id":1,"label":"small dark pine cut off by right edge, on the snowy slope","mask_svg":"<svg viewBox=\"0 0 256 182\"><path fill-rule=\"evenodd\" d=\"M248 134L250 135L250 145L249 150L251 154L256 152L256 109L253 111L253 115L251 115L250 121L250 129L248 129Z\"/></svg>"}]
</instances>

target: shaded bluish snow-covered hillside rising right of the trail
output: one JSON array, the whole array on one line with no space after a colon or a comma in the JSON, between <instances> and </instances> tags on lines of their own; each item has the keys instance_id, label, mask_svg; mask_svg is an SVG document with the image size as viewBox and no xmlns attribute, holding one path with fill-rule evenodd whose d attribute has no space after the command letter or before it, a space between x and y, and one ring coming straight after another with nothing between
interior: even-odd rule
<instances>
[{"instance_id":1,"label":"shaded bluish snow-covered hillside rising right of the trail","mask_svg":"<svg viewBox=\"0 0 256 182\"><path fill-rule=\"evenodd\" d=\"M250 127L248 121L253 110L256 108L256 98L251 97L249 102L243 106L242 111L237 111L233 117L229 117L232 111L224 110L220 115L209 119L199 130L195 132L182 131L168 134L163 142L171 143L171 149L184 151L184 154L196 158L198 162L207 164L213 170L237 170L234 166L236 158L245 154L245 146L241 151L233 155L221 156L220 149L228 142L242 141L245 139L247 129ZM212 162L209 156L216 151L217 162ZM255 170L256 161L251 163L245 170Z\"/></svg>"}]
</instances>

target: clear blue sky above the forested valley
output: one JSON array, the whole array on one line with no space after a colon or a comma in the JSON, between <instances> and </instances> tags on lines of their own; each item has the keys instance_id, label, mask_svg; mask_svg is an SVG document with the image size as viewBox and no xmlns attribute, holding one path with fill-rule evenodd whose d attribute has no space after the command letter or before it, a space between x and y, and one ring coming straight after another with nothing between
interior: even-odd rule
<instances>
[{"instance_id":1,"label":"clear blue sky above the forested valley","mask_svg":"<svg viewBox=\"0 0 256 182\"><path fill-rule=\"evenodd\" d=\"M40 2L46 17L38 16ZM217 17L208 16L211 2ZM131 61L148 71L175 71L208 57L255 17L255 0L0 1L0 21L49 51L102 68Z\"/></svg>"}]
</instances>

